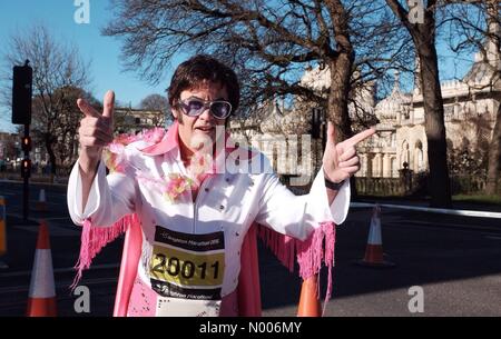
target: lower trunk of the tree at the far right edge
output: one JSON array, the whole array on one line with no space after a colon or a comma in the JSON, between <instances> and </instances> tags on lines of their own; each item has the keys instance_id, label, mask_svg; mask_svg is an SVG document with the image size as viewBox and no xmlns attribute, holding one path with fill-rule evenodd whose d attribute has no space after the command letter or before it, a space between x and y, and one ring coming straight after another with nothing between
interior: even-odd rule
<instances>
[{"instance_id":1,"label":"lower trunk of the tree at the far right edge","mask_svg":"<svg viewBox=\"0 0 501 339\"><path fill-rule=\"evenodd\" d=\"M501 103L495 114L494 131L489 144L489 169L485 192L495 195L499 192L499 176L501 173Z\"/></svg>"}]
</instances>

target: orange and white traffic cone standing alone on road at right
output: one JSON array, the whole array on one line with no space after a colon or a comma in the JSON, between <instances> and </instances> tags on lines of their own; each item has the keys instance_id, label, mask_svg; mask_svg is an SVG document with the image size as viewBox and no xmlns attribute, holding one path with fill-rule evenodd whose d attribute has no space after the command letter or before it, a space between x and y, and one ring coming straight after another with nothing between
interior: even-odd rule
<instances>
[{"instance_id":1,"label":"orange and white traffic cone standing alone on road at right","mask_svg":"<svg viewBox=\"0 0 501 339\"><path fill-rule=\"evenodd\" d=\"M356 261L356 263L361 266L376 268L390 268L395 266L393 262L384 259L380 213L380 206L374 206L371 218L371 230L369 231L367 247L365 248L365 256L364 259Z\"/></svg>"}]
</instances>

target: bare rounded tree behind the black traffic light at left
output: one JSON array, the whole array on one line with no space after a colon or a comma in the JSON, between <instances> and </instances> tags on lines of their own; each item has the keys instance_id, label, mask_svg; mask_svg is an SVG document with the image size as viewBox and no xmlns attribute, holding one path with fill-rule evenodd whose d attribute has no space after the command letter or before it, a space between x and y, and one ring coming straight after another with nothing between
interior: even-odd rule
<instances>
[{"instance_id":1,"label":"bare rounded tree behind the black traffic light at left","mask_svg":"<svg viewBox=\"0 0 501 339\"><path fill-rule=\"evenodd\" d=\"M75 154L73 139L79 116L76 94L89 84L89 63L75 47L57 41L43 26L10 37L4 54L6 69L29 59L33 68L32 129L49 154L52 175ZM10 88L10 83L7 83ZM6 90L10 93L10 90ZM57 154L59 152L59 154ZM72 159L71 157L69 159Z\"/></svg>"}]
</instances>

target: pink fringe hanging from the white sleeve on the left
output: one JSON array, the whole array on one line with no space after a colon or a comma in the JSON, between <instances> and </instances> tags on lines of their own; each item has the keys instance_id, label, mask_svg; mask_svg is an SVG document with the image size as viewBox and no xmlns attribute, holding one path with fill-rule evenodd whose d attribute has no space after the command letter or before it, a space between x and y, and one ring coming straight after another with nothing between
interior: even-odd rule
<instances>
[{"instance_id":1,"label":"pink fringe hanging from the white sleeve on the left","mask_svg":"<svg viewBox=\"0 0 501 339\"><path fill-rule=\"evenodd\" d=\"M77 276L70 289L73 290L82 277L82 271L90 267L92 259L100 252L100 250L109 242L117 239L125 233L131 223L139 222L136 213L128 215L115 222L111 227L96 227L92 221L86 219L81 231L80 256L75 266Z\"/></svg>"}]
</instances>

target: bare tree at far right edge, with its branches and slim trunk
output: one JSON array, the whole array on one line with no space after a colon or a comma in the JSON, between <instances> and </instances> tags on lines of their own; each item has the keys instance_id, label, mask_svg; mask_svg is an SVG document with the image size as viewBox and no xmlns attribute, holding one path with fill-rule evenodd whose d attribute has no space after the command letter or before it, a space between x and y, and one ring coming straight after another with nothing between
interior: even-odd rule
<instances>
[{"instance_id":1,"label":"bare tree at far right edge, with its branches and slim trunk","mask_svg":"<svg viewBox=\"0 0 501 339\"><path fill-rule=\"evenodd\" d=\"M468 81L472 91L487 91L498 101L493 112L493 132L490 139L488 153L487 188L488 195L499 192L499 177L501 173L501 6L498 0L485 1L448 1L448 22L455 39L450 39L453 51L478 51L481 62L478 63L478 73L481 81ZM475 80L475 79L472 79ZM489 126L489 129L491 127Z\"/></svg>"}]
</instances>

